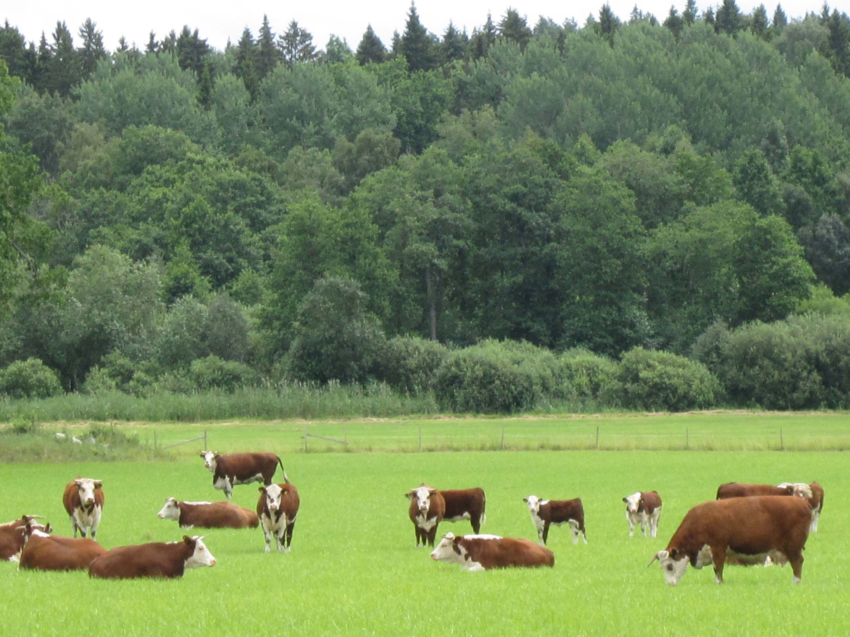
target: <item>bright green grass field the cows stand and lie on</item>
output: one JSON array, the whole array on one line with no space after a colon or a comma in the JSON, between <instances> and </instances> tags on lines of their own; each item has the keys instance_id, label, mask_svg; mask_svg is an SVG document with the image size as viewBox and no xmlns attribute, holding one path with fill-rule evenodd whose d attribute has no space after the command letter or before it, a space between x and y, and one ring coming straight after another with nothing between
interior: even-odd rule
<instances>
[{"instance_id":1,"label":"bright green grass field the cows stand and lie on","mask_svg":"<svg viewBox=\"0 0 850 637\"><path fill-rule=\"evenodd\" d=\"M497 421L490 424L501 429ZM274 434L280 427L219 425L210 437L211 447L222 451L262 448L283 456L302 496L292 553L263 554L259 529L215 530L206 541L218 565L170 582L17 572L14 564L3 563L0 634L850 632L847 513L840 505L848 486L844 454L287 454ZM195 431L157 428L163 439L173 440ZM303 425L292 424L294 440L299 428L303 432ZM82 475L104 481L98 539L105 547L178 539L184 532L176 522L156 518L165 498L222 497L212 489L201 459L188 455L195 445L187 447L187 455L170 462L4 465L0 518L40 514L59 533L70 534L61 492L68 480ZM689 507L712 499L717 485L730 480L818 480L824 485L825 513L819 533L809 538L801 585L792 586L790 567L728 567L721 586L707 568L689 569L676 588L669 588L657 565L646 567ZM414 547L406 512L404 493L420 482L484 488L487 523L482 531L524 538L536 537L524 496L581 496L590 544L574 546L568 529L553 527L553 569L467 573L433 562L428 550ZM657 489L664 499L658 538L627 537L621 498L638 489ZM236 487L234 493L237 504L256 505L256 485ZM447 531L468 533L468 522L441 525L440 533Z\"/></svg>"}]
</instances>

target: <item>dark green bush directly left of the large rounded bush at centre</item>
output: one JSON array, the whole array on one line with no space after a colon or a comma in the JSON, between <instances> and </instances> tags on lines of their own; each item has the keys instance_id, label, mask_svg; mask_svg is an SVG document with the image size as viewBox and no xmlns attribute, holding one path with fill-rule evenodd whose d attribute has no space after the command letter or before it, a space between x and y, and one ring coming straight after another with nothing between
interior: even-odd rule
<instances>
[{"instance_id":1,"label":"dark green bush directly left of the large rounded bush at centre","mask_svg":"<svg viewBox=\"0 0 850 637\"><path fill-rule=\"evenodd\" d=\"M449 349L437 341L416 336L396 336L387 343L377 364L377 375L398 392L412 395L430 392L439 366Z\"/></svg>"}]
</instances>

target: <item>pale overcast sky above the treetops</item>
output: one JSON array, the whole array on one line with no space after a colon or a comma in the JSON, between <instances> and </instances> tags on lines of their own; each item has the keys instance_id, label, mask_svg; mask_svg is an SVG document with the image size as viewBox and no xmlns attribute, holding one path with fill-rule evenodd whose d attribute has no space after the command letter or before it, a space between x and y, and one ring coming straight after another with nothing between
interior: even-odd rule
<instances>
[{"instance_id":1,"label":"pale overcast sky above the treetops","mask_svg":"<svg viewBox=\"0 0 850 637\"><path fill-rule=\"evenodd\" d=\"M680 13L684 2L681 0L676 4ZM297 20L298 25L313 35L313 42L318 48L324 48L331 34L345 38L348 46L357 48L366 25L370 23L382 42L389 46L393 31L401 33L405 30L407 12L411 6L409 0L325 0L307 3L260 3L256 0L226 3L211 3L209 0L143 0L128 3L116 0L87 0L84 3L70 3L67 0L12 0L4 4L5 7L0 11L5 12L5 15L0 14L0 19L5 18L9 25L17 26L27 41L38 42L44 31L48 42L51 42L56 22L64 20L74 37L74 44L78 45L77 31L86 18L91 18L103 33L105 47L109 50L115 50L121 36L126 37L128 43L135 42L139 48L144 48L150 31L154 31L156 39L161 40L168 31L179 33L183 25L189 25L192 30L198 29L200 36L206 38L212 47L224 49L228 39L234 44L239 41L246 26L256 37L263 23L263 14L269 16L269 24L275 33L285 31L291 20ZM598 14L602 4L603 0L594 3L564 3L563 0L515 0L513 3L504 0L420 0L416 3L416 10L428 31L442 36L449 20L458 28L465 27L472 33L474 27L484 24L488 11L498 24L509 6L516 7L520 14L525 15L531 26L535 25L540 15L558 23L574 18L581 26L587 14ZM697 0L700 12L709 6L716 7L717 4ZM745 13L750 13L758 4L754 0L738 0L738 6ZM783 0L781 4L791 20L802 18L807 11L819 12L823 0ZM610 5L621 19L627 19L635 0L610 0ZM664 20L670 6L670 0L638 2L638 7L644 13L655 14L659 20ZM768 16L773 17L776 3L765 3L765 6L768 8Z\"/></svg>"}]
</instances>

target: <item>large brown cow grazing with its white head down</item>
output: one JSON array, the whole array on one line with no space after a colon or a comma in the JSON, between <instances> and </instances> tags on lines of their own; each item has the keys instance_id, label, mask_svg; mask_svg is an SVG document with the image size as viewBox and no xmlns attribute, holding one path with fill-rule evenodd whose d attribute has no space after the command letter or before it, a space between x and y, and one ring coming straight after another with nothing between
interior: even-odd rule
<instances>
[{"instance_id":1,"label":"large brown cow grazing with its white head down","mask_svg":"<svg viewBox=\"0 0 850 637\"><path fill-rule=\"evenodd\" d=\"M694 506L673 533L658 560L666 583L675 586L688 568L714 564L715 581L723 583L726 561L762 564L768 557L791 562L793 583L802 575L802 551L806 547L812 510L802 498L756 495L709 500Z\"/></svg>"}]
</instances>

